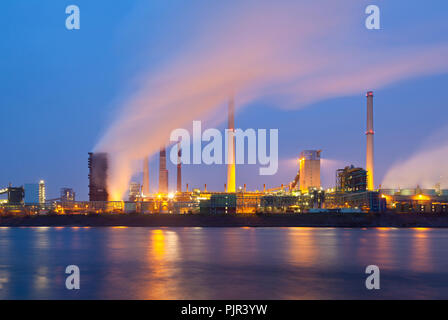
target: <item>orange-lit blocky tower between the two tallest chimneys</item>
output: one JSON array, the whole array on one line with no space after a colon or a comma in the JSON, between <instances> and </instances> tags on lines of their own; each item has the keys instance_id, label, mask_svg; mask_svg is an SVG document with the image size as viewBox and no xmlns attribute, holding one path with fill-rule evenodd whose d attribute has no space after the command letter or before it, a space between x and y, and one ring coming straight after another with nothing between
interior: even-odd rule
<instances>
[{"instance_id":1,"label":"orange-lit blocky tower between the two tallest chimneys","mask_svg":"<svg viewBox=\"0 0 448 320\"><path fill-rule=\"evenodd\" d=\"M299 188L306 192L320 185L320 153L322 150L304 150L299 159Z\"/></svg>"}]
</instances>

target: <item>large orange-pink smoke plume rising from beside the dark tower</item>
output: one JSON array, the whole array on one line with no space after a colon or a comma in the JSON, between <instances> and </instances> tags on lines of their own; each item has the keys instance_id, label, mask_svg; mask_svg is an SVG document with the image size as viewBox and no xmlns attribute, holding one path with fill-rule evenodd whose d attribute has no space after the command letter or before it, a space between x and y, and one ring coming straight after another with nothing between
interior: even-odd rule
<instances>
[{"instance_id":1,"label":"large orange-pink smoke plume rising from beside the dark tower","mask_svg":"<svg viewBox=\"0 0 448 320\"><path fill-rule=\"evenodd\" d=\"M300 108L448 70L446 45L370 43L375 31L365 29L359 1L297 2L230 1L219 12L203 3L195 27L183 30L188 45L157 72L140 76L140 90L124 101L95 148L110 154L112 199L122 198L141 170L136 161L158 152L171 130L216 114L230 95L237 107L266 99Z\"/></svg>"}]
</instances>

